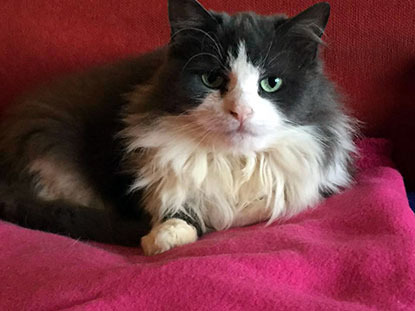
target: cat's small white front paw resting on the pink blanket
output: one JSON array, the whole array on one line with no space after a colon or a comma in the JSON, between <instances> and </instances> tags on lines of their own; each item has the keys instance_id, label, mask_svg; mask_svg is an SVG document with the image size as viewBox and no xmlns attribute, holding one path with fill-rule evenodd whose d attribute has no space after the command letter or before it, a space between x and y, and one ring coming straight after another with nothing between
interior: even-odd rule
<instances>
[{"instance_id":1,"label":"cat's small white front paw resting on the pink blanket","mask_svg":"<svg viewBox=\"0 0 415 311\"><path fill-rule=\"evenodd\" d=\"M168 219L154 226L141 238L141 247L147 256L163 253L173 247L195 242L196 228L178 218Z\"/></svg>"}]
</instances>

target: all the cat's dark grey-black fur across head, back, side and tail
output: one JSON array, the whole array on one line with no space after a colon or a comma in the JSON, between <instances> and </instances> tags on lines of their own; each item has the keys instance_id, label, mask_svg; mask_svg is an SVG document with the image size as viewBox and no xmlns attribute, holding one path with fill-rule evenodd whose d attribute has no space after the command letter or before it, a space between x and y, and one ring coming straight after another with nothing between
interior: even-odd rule
<instances>
[{"instance_id":1,"label":"all the cat's dark grey-black fur across head, back, side and tail","mask_svg":"<svg viewBox=\"0 0 415 311\"><path fill-rule=\"evenodd\" d=\"M196 15L189 18L188 11ZM229 16L204 11L194 1L171 0L173 35L167 47L72 75L11 107L0 132L0 217L74 237L137 243L149 229L148 215L140 208L143 189L128 191L137 179L137 170L132 172L133 166L125 160L140 160L145 148L131 148L126 155L130 146L121 139L126 138L123 118L145 114L140 122L142 131L147 131L164 116L185 115L211 92L194 73L208 72L212 66L230 70L230 59L238 57L241 42L247 62L284 75L281 92L262 92L261 97L275 104L290 125L315 130L314 143L320 144L324 156L321 174L333 175L339 163L345 175L331 176L330 181L327 177L318 190L320 195L338 191L349 182L353 126L337 103L318 56L328 16L327 4L289 19L254 13ZM317 25L305 23L307 18ZM131 92L141 96L140 100L132 100L131 95L127 100L125 94ZM227 92L224 84L220 93L226 96ZM87 206L70 200L40 199L36 195L36 170L28 169L28 165L43 156L62 163L63 169L81 172L88 191L98 199ZM130 166L126 168L125 163ZM36 167L46 164L37 163ZM42 169L48 172L47 165ZM188 202L185 205L193 217ZM151 216L154 221L168 215ZM205 232L205 224L198 217L184 220L198 233Z\"/></svg>"}]
</instances>

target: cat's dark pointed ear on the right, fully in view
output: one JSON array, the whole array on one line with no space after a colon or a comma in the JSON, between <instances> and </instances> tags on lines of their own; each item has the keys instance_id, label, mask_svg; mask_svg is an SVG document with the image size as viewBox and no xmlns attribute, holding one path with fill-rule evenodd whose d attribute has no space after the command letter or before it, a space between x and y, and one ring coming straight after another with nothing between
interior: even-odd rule
<instances>
[{"instance_id":1,"label":"cat's dark pointed ear on the right, fully in view","mask_svg":"<svg viewBox=\"0 0 415 311\"><path fill-rule=\"evenodd\" d=\"M327 2L317 3L300 14L290 18L280 28L291 37L298 54L304 63L315 59L318 46L323 43L321 37L330 16L330 5Z\"/></svg>"}]
</instances>

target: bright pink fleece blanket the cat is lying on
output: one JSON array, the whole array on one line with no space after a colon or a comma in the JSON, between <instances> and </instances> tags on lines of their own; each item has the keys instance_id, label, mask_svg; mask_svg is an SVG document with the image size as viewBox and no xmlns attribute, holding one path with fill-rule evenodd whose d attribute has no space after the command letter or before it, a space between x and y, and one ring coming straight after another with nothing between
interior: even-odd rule
<instances>
[{"instance_id":1,"label":"bright pink fleece blanket the cat is lying on","mask_svg":"<svg viewBox=\"0 0 415 311\"><path fill-rule=\"evenodd\" d=\"M415 217L388 145L356 185L282 224L154 257L0 223L0 310L415 310Z\"/></svg>"}]
</instances>

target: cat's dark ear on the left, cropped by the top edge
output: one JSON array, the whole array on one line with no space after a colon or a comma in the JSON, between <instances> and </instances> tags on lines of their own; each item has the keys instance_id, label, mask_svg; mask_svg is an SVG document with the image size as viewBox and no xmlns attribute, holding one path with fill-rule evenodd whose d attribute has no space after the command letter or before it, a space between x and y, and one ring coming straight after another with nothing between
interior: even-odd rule
<instances>
[{"instance_id":1,"label":"cat's dark ear on the left, cropped by the top edge","mask_svg":"<svg viewBox=\"0 0 415 311\"><path fill-rule=\"evenodd\" d=\"M185 28L198 28L213 21L212 15L196 0L169 0L171 35Z\"/></svg>"}]
</instances>

